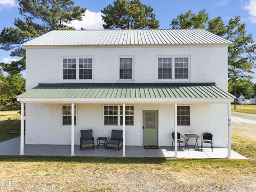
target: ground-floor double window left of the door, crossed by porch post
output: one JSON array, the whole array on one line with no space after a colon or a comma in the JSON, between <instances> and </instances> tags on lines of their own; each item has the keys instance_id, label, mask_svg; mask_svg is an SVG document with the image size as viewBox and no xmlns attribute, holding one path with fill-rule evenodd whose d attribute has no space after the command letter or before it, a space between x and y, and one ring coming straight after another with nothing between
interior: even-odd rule
<instances>
[{"instance_id":1,"label":"ground-floor double window left of the door, crossed by porch post","mask_svg":"<svg viewBox=\"0 0 256 192\"><path fill-rule=\"evenodd\" d=\"M123 125L123 106L103 106L104 125ZM125 125L134 125L134 106L125 106Z\"/></svg>"}]
</instances>

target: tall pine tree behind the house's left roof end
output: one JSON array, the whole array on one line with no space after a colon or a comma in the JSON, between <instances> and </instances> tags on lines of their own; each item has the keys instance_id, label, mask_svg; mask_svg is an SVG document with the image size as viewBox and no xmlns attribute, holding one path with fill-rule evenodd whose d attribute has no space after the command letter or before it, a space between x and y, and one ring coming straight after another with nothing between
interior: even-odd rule
<instances>
[{"instance_id":1,"label":"tall pine tree behind the house's left roof end","mask_svg":"<svg viewBox=\"0 0 256 192\"><path fill-rule=\"evenodd\" d=\"M15 27L4 28L0 34L0 49L20 58L11 63L0 63L9 74L26 69L25 49L21 44L54 29L74 29L66 24L82 20L86 9L74 6L71 0L19 0L22 19L14 19Z\"/></svg>"}]
</instances>

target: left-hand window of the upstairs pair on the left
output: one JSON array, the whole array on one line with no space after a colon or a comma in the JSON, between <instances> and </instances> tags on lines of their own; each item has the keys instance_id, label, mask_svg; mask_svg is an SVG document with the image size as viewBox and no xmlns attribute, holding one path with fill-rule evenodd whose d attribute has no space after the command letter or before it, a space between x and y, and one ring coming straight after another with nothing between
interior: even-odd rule
<instances>
[{"instance_id":1,"label":"left-hand window of the upstairs pair on the left","mask_svg":"<svg viewBox=\"0 0 256 192\"><path fill-rule=\"evenodd\" d=\"M63 79L76 79L76 59L63 59Z\"/></svg>"}]
</instances>

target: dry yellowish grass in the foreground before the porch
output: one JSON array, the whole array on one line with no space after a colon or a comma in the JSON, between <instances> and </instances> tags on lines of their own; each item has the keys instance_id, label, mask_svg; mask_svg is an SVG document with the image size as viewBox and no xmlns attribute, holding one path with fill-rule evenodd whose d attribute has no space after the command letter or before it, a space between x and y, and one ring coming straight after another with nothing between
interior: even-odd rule
<instances>
[{"instance_id":1,"label":"dry yellowish grass in the foreground before the porch","mask_svg":"<svg viewBox=\"0 0 256 192\"><path fill-rule=\"evenodd\" d=\"M249 159L0 156L0 191L255 191L256 140L232 139Z\"/></svg>"}]
</instances>

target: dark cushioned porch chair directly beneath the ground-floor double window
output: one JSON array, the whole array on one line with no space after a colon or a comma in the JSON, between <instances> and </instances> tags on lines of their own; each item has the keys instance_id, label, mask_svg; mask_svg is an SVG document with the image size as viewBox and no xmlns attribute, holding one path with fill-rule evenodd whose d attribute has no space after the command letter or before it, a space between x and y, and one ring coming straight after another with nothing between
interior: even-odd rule
<instances>
[{"instance_id":1,"label":"dark cushioned porch chair directly beneath the ground-floor double window","mask_svg":"<svg viewBox=\"0 0 256 192\"><path fill-rule=\"evenodd\" d=\"M112 130L111 137L107 140L107 148L117 147L118 150L123 147L123 131L122 130Z\"/></svg>"}]
</instances>

